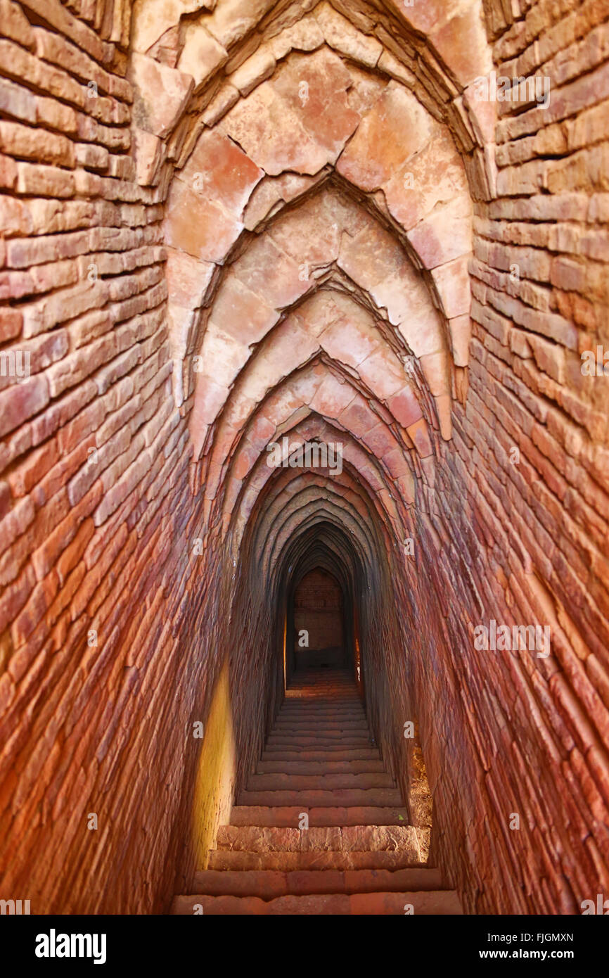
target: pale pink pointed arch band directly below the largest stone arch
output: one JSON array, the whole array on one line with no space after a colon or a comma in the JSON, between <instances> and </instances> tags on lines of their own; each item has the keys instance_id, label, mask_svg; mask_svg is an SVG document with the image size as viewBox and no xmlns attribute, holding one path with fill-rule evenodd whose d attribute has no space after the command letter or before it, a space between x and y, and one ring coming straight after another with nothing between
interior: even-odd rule
<instances>
[{"instance_id":1,"label":"pale pink pointed arch band directly below the largest stone arch","mask_svg":"<svg viewBox=\"0 0 609 978\"><path fill-rule=\"evenodd\" d=\"M443 401L436 403L436 410L448 436L450 434L450 412L447 411L447 395L450 393L450 353L446 348L440 317L436 309L414 277L404 253L399 246L395 247L392 244L389 236L373 234L370 224L364 220L364 227L360 236L356 237L355 241L350 237L347 237L346 240L343 238L339 247L341 229L336 225L336 222L334 223L335 246L328 248L324 256L325 260L318 252L320 260L317 267L323 270L325 264L330 275L329 280L326 279L326 289L320 295L318 305L322 306L324 300L327 300L328 312L335 310L335 303L331 301L331 296L327 291L328 285L331 285L332 282L330 266L334 263L347 274L343 288L355 289L356 293L360 293L361 289L366 289L366 287L371 290L372 298L378 303L377 310L381 307L386 317L386 329L396 334L396 340L402 343L403 349L409 356L413 355L414 349L415 355L421 358L423 374L431 382L433 394L444 397ZM289 224L287 227L289 228ZM280 233L281 230L278 230L278 234ZM362 241L368 238L366 246L358 241L359 237L362 238ZM257 299L255 309L251 302L248 303L247 312L251 314L249 321L239 321L239 318L235 321L231 320L230 299L228 299L226 292L221 291L220 293L218 311L214 311L213 305L210 307L206 316L205 333L202 337L200 351L197 354L198 361L196 362L196 366L199 367L199 376L196 377L195 384L193 428L196 432L196 447L199 450L203 432L214 422L222 406L222 391L224 389L229 390L233 386L239 372L244 370L248 362L250 356L248 347L255 344L255 362L259 358L275 355L276 360L280 363L283 356L280 345L282 337L288 335L290 329L292 333L297 333L300 329L301 338L298 340L297 336L294 335L294 341L305 348L307 346L311 346L312 350L315 348L315 323L311 318L307 321L306 315L302 312L306 306L304 298L307 293L315 288L316 294L320 294L316 288L317 277L309 278L311 275L309 271L311 265L308 260L310 255L305 252L296 255L295 258L290 255L286 257L286 252L279 250L275 243L269 248L259 239L256 244L261 245L261 247L255 248L256 257L251 254L251 251L245 252L232 267L230 295L233 297L235 289L239 289L239 286L249 289L253 285L262 290L259 269L265 267L267 261L272 261L274 264L277 285L274 286L269 283L265 298ZM299 261L299 258L306 260ZM294 281L297 271L299 277ZM349 276L348 273L351 275ZM304 279L302 283L301 278ZM360 279L360 282L357 279ZM287 290L284 285L285 280L289 282ZM283 316L280 316L278 313L279 325L273 327L269 319L266 320L266 323L264 320L269 304L273 303L275 289L277 289L278 294L281 294L282 299L292 298L295 293L295 300L300 299L300 303L294 309L294 315L284 312ZM253 289L250 289L248 297L253 298L255 294ZM235 308L234 305L233 308ZM237 308L239 310L239 305ZM352 315L354 325L356 317L360 318L358 309L354 305ZM381 313L378 311L377 319L381 318ZM264 323L262 327L259 325L261 322ZM219 325L220 323L222 326ZM267 333L263 333L263 330L269 323L271 323L268 327L269 330L273 330L271 341L264 342ZM336 329L338 327L334 328L334 332ZM329 337L327 341L329 341ZM324 342L323 338L321 342ZM356 333L354 333L353 342L358 342ZM403 382L396 386L396 391L400 387L407 386L409 380L404 376L403 365L398 365L395 362L395 356L393 357L394 363L391 364L391 352L389 350L384 356L387 360L387 374L392 372L396 377L402 374ZM261 370L262 368L259 368L258 372L260 373Z\"/></svg>"}]
</instances>

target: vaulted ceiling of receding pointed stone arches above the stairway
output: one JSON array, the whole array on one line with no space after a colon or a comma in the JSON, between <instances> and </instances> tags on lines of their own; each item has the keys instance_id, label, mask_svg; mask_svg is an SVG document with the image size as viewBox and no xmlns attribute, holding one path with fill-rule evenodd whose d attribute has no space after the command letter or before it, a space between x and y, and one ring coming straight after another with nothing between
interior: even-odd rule
<instances>
[{"instance_id":1,"label":"vaulted ceiling of receding pointed stone arches above the stairway","mask_svg":"<svg viewBox=\"0 0 609 978\"><path fill-rule=\"evenodd\" d=\"M249 524L272 565L332 521L402 542L466 391L481 4L147 0L132 45L203 531ZM340 444L340 476L270 467L285 437Z\"/></svg>"}]
</instances>

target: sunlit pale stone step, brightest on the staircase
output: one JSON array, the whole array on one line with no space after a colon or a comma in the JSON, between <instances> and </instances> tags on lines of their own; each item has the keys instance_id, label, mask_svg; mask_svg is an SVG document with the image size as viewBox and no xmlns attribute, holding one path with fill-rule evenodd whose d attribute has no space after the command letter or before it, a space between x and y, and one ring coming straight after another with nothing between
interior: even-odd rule
<instances>
[{"instance_id":1,"label":"sunlit pale stone step, brightest on the staircase","mask_svg":"<svg viewBox=\"0 0 609 978\"><path fill-rule=\"evenodd\" d=\"M248 811L239 809L239 812ZM326 810L322 811L326 814ZM310 817L310 828L301 829L297 824L290 821L282 825L270 822L220 825L216 842L218 849L234 852L400 852L407 853L414 863L420 858L419 846L429 845L430 829L406 822L354 825L326 822L316 826L311 825Z\"/></svg>"}]
</instances>

